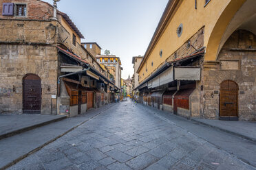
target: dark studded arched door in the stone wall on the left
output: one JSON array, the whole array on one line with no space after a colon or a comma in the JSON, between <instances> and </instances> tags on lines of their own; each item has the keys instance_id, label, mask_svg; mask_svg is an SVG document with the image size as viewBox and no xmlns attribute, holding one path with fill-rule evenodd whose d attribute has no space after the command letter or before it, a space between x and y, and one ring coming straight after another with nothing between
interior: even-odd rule
<instances>
[{"instance_id":1,"label":"dark studded arched door in the stone wall on the left","mask_svg":"<svg viewBox=\"0 0 256 170\"><path fill-rule=\"evenodd\" d=\"M41 113L41 79L34 74L23 77L23 113Z\"/></svg>"}]
</instances>

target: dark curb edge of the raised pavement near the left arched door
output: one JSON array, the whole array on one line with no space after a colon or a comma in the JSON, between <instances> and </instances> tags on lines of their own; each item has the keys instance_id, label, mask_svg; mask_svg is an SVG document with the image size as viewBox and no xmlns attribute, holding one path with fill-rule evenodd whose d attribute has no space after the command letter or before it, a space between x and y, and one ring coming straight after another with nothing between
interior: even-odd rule
<instances>
[{"instance_id":1,"label":"dark curb edge of the raised pavement near the left arched door","mask_svg":"<svg viewBox=\"0 0 256 170\"><path fill-rule=\"evenodd\" d=\"M23 132L27 132L29 130L33 130L37 127L41 127L41 126L44 126L44 125L48 125L50 123L54 123L54 122L57 122L57 121L62 121L63 119L66 119L67 117L63 116L63 117L58 117L57 119L52 119L50 121L45 121L45 122L42 122L42 123L38 123L38 124L35 124L35 125L30 125L28 127L23 127L19 130L14 130L12 132L7 132L6 134L1 134L0 135L0 140L3 139L3 138L8 138L10 136L14 136L14 135L17 135L17 134L21 134Z\"/></svg>"}]
</instances>

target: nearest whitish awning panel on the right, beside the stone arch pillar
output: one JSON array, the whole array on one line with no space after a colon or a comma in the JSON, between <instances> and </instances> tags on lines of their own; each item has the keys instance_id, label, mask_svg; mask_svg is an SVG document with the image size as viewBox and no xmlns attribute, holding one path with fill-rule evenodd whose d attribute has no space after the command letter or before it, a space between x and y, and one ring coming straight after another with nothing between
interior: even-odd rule
<instances>
[{"instance_id":1,"label":"nearest whitish awning panel on the right, beside the stone arch pillar","mask_svg":"<svg viewBox=\"0 0 256 170\"><path fill-rule=\"evenodd\" d=\"M174 68L175 80L200 80L201 68Z\"/></svg>"}]
</instances>

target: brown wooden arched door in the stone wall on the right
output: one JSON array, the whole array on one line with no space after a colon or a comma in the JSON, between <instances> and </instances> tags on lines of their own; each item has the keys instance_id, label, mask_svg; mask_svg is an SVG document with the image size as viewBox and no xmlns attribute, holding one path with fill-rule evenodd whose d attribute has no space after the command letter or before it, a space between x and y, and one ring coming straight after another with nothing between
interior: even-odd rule
<instances>
[{"instance_id":1,"label":"brown wooden arched door in the stone wall on the right","mask_svg":"<svg viewBox=\"0 0 256 170\"><path fill-rule=\"evenodd\" d=\"M238 120L238 86L231 80L220 84L220 119Z\"/></svg>"}]
</instances>

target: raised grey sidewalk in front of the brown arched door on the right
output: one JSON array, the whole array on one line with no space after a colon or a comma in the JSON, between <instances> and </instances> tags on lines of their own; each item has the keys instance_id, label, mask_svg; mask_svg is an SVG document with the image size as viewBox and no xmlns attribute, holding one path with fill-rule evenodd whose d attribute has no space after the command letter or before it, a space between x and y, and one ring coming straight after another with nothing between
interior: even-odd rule
<instances>
[{"instance_id":1,"label":"raised grey sidewalk in front of the brown arched door on the right","mask_svg":"<svg viewBox=\"0 0 256 170\"><path fill-rule=\"evenodd\" d=\"M256 122L253 121L220 121L209 119L193 118L192 121L209 125L224 132L246 138L249 141L256 142Z\"/></svg>"}]
</instances>

